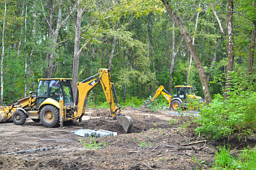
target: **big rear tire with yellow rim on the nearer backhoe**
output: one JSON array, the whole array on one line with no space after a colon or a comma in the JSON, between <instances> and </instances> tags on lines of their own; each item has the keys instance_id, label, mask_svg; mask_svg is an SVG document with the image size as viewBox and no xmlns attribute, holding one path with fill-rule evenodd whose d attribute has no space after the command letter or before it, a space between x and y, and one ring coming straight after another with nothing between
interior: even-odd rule
<instances>
[{"instance_id":1,"label":"big rear tire with yellow rim on the nearer backhoe","mask_svg":"<svg viewBox=\"0 0 256 170\"><path fill-rule=\"evenodd\" d=\"M41 109L40 119L44 126L54 127L59 125L59 109L53 105L46 105Z\"/></svg>"}]
</instances>

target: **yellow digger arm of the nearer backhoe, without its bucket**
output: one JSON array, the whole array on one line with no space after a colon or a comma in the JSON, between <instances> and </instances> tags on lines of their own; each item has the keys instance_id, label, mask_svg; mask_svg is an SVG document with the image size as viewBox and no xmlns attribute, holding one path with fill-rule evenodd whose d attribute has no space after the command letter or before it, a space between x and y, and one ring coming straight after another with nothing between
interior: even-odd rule
<instances>
[{"instance_id":1,"label":"yellow digger arm of the nearer backhoe, without its bucket","mask_svg":"<svg viewBox=\"0 0 256 170\"><path fill-rule=\"evenodd\" d=\"M98 74L99 74L99 77L97 79L93 79L93 77L95 77ZM115 117L116 111L120 110L120 106L118 104L117 97L115 95L114 83L111 83L110 70L100 69L98 70L98 74L95 74L89 79L85 79L80 83L76 83L78 88L78 94L77 94L78 103L77 103L77 113L75 113L75 117L80 117L82 116L83 113L85 113L85 106L87 104L89 91L91 91L93 87L97 86L98 83L102 84L102 89L106 96L106 101L111 106L112 117ZM113 95L115 96L115 102L117 103L117 106L115 106Z\"/></svg>"}]
</instances>

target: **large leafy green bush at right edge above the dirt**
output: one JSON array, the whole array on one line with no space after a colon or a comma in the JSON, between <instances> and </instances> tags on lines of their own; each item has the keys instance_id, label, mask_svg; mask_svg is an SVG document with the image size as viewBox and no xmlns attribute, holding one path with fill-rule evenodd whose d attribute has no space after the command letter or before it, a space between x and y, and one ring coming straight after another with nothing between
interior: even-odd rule
<instances>
[{"instance_id":1,"label":"large leafy green bush at right edge above the dirt","mask_svg":"<svg viewBox=\"0 0 256 170\"><path fill-rule=\"evenodd\" d=\"M248 83L246 83L249 85ZM233 133L248 136L256 130L256 92L245 91L240 77L232 75L232 89L228 98L215 95L209 106L202 108L198 122L202 126L196 129L197 133L209 135L210 138L223 138Z\"/></svg>"}]
</instances>

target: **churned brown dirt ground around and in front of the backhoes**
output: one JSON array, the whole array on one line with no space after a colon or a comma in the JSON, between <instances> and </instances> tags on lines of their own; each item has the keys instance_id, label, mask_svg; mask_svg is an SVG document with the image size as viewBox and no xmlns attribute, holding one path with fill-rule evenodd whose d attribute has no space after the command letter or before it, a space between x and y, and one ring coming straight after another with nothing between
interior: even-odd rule
<instances>
[{"instance_id":1,"label":"churned brown dirt ground around and in front of the backhoes","mask_svg":"<svg viewBox=\"0 0 256 170\"><path fill-rule=\"evenodd\" d=\"M199 138L188 124L189 117L145 108L124 108L122 113L133 119L131 134L125 134L104 108L87 109L82 122L68 123L62 129L46 128L32 120L21 126L2 123L0 169L207 169L212 167L217 147L227 142ZM80 129L111 130L118 135L94 138L98 145L106 144L95 150L83 147L92 138L72 133ZM246 142L234 138L229 143L235 151L254 147L255 141L254 137ZM30 152L33 149L37 151Z\"/></svg>"}]
</instances>

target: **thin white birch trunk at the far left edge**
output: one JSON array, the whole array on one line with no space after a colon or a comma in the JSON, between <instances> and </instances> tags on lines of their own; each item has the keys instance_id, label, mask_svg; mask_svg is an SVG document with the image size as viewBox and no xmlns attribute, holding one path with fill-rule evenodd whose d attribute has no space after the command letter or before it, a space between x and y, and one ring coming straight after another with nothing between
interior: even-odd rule
<instances>
[{"instance_id":1,"label":"thin white birch trunk at the far left edge","mask_svg":"<svg viewBox=\"0 0 256 170\"><path fill-rule=\"evenodd\" d=\"M4 3L4 15L2 21L2 57L1 57L1 104L3 104L3 55L4 55L4 28L6 25L6 14L7 14L7 2Z\"/></svg>"}]
</instances>

